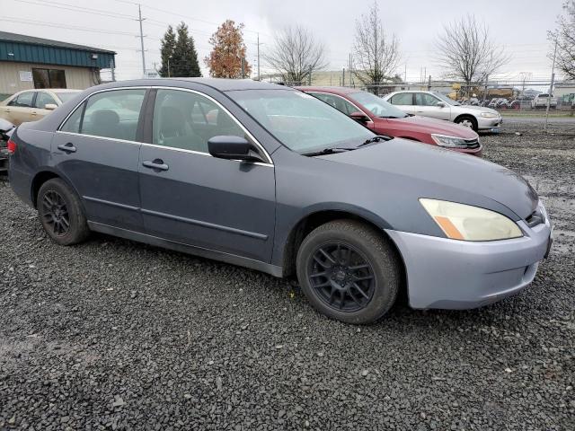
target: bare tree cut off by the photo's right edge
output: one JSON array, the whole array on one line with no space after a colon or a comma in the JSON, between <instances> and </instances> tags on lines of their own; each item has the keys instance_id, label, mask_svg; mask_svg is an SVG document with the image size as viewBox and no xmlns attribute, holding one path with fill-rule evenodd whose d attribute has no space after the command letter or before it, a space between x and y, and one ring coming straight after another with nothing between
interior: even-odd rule
<instances>
[{"instance_id":1,"label":"bare tree cut off by the photo's right edge","mask_svg":"<svg viewBox=\"0 0 575 431\"><path fill-rule=\"evenodd\" d=\"M563 3L557 30L549 34L557 42L557 67L568 79L575 79L575 0Z\"/></svg>"}]
</instances>

